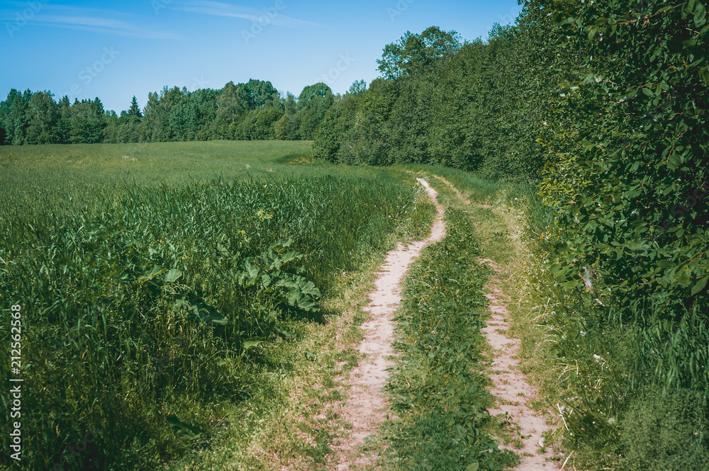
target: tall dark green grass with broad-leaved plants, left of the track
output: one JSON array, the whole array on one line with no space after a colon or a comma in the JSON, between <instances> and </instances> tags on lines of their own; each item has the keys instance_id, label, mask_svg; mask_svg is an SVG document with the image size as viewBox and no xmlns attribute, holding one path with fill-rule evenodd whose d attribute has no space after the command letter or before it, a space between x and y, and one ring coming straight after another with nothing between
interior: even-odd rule
<instances>
[{"instance_id":1,"label":"tall dark green grass with broad-leaved plants, left of the track","mask_svg":"<svg viewBox=\"0 0 709 471\"><path fill-rule=\"evenodd\" d=\"M318 319L336 273L432 213L411 178L372 169L160 185L102 169L84 193L24 175L3 181L0 306L23 312L28 469L149 469L206 444L223 404L259 387L250 351Z\"/></svg>"}]
</instances>

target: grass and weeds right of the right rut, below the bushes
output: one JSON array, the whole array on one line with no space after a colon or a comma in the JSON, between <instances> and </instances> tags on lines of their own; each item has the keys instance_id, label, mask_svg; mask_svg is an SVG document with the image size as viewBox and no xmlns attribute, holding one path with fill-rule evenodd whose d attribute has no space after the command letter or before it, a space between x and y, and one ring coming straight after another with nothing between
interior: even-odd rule
<instances>
[{"instance_id":1,"label":"grass and weeds right of the right rut, below the bushes","mask_svg":"<svg viewBox=\"0 0 709 471\"><path fill-rule=\"evenodd\" d=\"M508 192L508 204L525 227L523 297L554 344L549 367L562 395L552 404L564 417L570 464L705 470L707 306L671 312L638 298L621 310L592 274L586 277L590 286L564 289L549 268L557 247L573 241L555 222L554 208L526 187Z\"/></svg>"}]
</instances>

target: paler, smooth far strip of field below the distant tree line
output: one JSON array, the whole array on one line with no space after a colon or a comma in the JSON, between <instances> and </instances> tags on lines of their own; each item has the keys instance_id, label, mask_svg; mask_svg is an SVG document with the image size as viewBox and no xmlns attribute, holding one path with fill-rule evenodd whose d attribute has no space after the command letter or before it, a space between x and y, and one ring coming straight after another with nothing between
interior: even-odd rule
<instances>
[{"instance_id":1,"label":"paler, smooth far strip of field below the distant tree line","mask_svg":"<svg viewBox=\"0 0 709 471\"><path fill-rule=\"evenodd\" d=\"M0 152L3 185L21 178L45 188L100 183L182 183L219 176L296 174L291 161L311 161L308 141L207 141L150 144L7 146ZM4 186L4 188L6 188Z\"/></svg>"}]
</instances>

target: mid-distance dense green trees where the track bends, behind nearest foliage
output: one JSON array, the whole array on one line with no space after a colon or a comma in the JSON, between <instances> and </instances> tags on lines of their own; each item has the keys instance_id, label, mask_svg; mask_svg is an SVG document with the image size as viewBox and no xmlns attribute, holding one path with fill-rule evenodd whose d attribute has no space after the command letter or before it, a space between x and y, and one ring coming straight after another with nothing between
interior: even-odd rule
<instances>
[{"instance_id":1,"label":"mid-distance dense green trees where the track bends, behind nearest foliage","mask_svg":"<svg viewBox=\"0 0 709 471\"><path fill-rule=\"evenodd\" d=\"M347 93L325 115L316 155L344 164L435 164L536 178L544 163L535 140L551 52L532 47L527 29L496 25L487 42L461 42L436 27L406 33L385 47L382 77Z\"/></svg>"}]
</instances>

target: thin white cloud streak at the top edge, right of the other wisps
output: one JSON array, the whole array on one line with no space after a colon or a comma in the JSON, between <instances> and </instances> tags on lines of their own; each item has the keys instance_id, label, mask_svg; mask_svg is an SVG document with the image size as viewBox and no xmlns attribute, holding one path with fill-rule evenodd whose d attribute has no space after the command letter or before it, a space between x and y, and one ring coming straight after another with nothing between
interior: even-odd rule
<instances>
[{"instance_id":1,"label":"thin white cloud streak at the top edge, right of the other wisps","mask_svg":"<svg viewBox=\"0 0 709 471\"><path fill-rule=\"evenodd\" d=\"M225 4L219 1L193 0L177 2L173 9L202 15L225 16L228 18L242 18L249 21L261 21L270 25L296 28L298 26L319 26L310 21L298 20L286 16L275 6L257 10L248 6ZM269 14L270 13L270 14Z\"/></svg>"}]
</instances>

